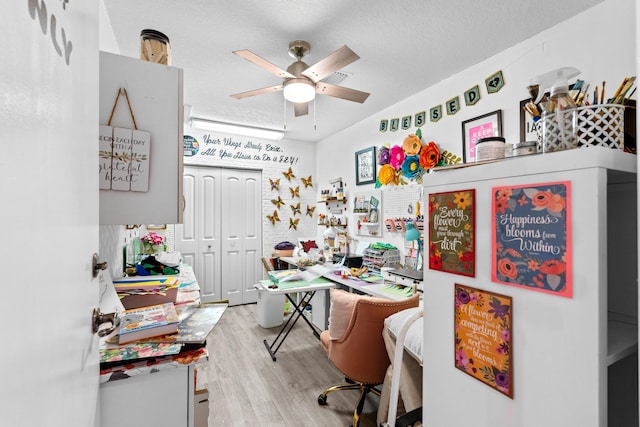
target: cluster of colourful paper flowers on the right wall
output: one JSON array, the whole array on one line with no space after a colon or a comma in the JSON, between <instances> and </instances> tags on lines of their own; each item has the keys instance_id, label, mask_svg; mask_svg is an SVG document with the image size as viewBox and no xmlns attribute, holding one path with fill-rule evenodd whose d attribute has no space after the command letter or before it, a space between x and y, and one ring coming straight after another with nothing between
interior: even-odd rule
<instances>
[{"instance_id":1,"label":"cluster of colourful paper flowers on the right wall","mask_svg":"<svg viewBox=\"0 0 640 427\"><path fill-rule=\"evenodd\" d=\"M422 184L422 176L440 165L438 145L422 143L422 131L408 135L402 145L384 146L378 150L378 178L376 188L383 185L406 185L407 180Z\"/></svg>"}]
</instances>

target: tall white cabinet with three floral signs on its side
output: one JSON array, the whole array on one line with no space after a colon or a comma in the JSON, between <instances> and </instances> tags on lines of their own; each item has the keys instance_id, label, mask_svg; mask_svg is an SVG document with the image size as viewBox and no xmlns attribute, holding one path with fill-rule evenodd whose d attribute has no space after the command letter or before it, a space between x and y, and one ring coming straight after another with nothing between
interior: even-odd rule
<instances>
[{"instance_id":1,"label":"tall white cabinet with three floral signs on its side","mask_svg":"<svg viewBox=\"0 0 640 427\"><path fill-rule=\"evenodd\" d=\"M555 181L571 182L573 297L492 282L492 188ZM475 189L477 264L465 277L425 259L424 423L637 425L636 157L575 149L441 170L424 186L425 206L430 193ZM513 399L454 367L456 283L512 297Z\"/></svg>"}]
</instances>

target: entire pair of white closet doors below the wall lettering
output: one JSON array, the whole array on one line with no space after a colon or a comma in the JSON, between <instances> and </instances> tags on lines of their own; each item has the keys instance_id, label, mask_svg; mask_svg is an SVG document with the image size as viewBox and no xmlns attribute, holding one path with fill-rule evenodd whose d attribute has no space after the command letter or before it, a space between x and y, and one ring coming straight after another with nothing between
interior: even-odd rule
<instances>
[{"instance_id":1,"label":"entire pair of white closet doors below the wall lettering","mask_svg":"<svg viewBox=\"0 0 640 427\"><path fill-rule=\"evenodd\" d=\"M261 172L185 166L184 223L176 249L193 266L202 300L257 300L262 248Z\"/></svg>"}]
</instances>

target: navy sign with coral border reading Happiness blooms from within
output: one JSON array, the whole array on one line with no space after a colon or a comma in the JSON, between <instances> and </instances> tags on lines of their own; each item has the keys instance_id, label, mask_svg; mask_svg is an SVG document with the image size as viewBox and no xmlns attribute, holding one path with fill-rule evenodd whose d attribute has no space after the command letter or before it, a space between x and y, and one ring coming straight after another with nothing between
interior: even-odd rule
<instances>
[{"instance_id":1,"label":"navy sign with coral border reading Happiness blooms from within","mask_svg":"<svg viewBox=\"0 0 640 427\"><path fill-rule=\"evenodd\" d=\"M570 184L493 188L493 281L571 298Z\"/></svg>"}]
</instances>

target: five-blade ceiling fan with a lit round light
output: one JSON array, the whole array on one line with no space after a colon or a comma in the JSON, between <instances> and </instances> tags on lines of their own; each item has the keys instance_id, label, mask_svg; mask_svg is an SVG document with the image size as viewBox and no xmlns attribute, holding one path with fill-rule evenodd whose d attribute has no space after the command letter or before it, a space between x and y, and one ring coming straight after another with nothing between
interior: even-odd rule
<instances>
[{"instance_id":1,"label":"five-blade ceiling fan with a lit round light","mask_svg":"<svg viewBox=\"0 0 640 427\"><path fill-rule=\"evenodd\" d=\"M304 40L295 40L289 43L289 55L296 58L296 61L289 65L287 71L249 50L234 51L233 53L239 57L253 62L257 66L264 68L284 80L282 84L279 85L236 93L231 96L236 99L242 99L263 93L283 91L284 98L287 101L293 102L296 117L309 113L308 102L315 98L316 93L359 103L363 103L367 99L369 94L366 92L321 81L342 67L360 59L355 52L344 45L314 65L308 66L302 62L302 58L308 54L310 50L311 45Z\"/></svg>"}]
</instances>

